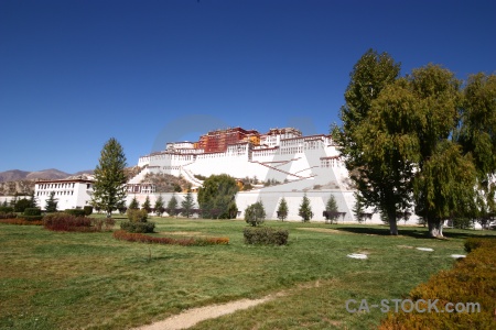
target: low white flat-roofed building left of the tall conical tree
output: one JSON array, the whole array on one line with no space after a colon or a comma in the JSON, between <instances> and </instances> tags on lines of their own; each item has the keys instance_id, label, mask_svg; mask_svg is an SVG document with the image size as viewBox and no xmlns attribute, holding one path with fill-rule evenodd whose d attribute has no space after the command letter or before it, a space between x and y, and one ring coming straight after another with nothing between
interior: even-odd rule
<instances>
[{"instance_id":1,"label":"low white flat-roofed building left of the tall conical tree","mask_svg":"<svg viewBox=\"0 0 496 330\"><path fill-rule=\"evenodd\" d=\"M82 209L89 205L95 182L90 179L41 180L34 185L34 197L41 209L54 193L57 210Z\"/></svg>"}]
</instances>

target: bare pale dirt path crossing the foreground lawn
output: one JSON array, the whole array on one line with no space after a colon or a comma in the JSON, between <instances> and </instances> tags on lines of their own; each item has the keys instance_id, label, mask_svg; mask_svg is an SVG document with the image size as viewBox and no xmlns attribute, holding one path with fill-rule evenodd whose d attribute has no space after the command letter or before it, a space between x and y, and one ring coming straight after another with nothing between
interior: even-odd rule
<instances>
[{"instance_id":1,"label":"bare pale dirt path crossing the foreground lawn","mask_svg":"<svg viewBox=\"0 0 496 330\"><path fill-rule=\"evenodd\" d=\"M134 330L176 330L187 329L194 324L213 318L218 318L223 315L231 314L237 310L247 309L259 304L267 302L273 298L281 296L269 295L260 299L241 299L231 302L211 305L205 307L193 308L183 311L182 314L172 316L163 321L159 321L149 326L136 328Z\"/></svg>"}]
</instances>

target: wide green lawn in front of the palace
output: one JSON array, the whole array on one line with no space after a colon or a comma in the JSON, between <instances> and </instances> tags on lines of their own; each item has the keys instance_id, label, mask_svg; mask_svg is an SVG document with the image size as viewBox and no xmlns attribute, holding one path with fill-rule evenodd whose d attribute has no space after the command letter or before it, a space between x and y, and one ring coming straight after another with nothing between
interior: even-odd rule
<instances>
[{"instance_id":1,"label":"wide green lawn in front of the palace","mask_svg":"<svg viewBox=\"0 0 496 330\"><path fill-rule=\"evenodd\" d=\"M369 329L384 315L349 314L347 299L402 298L450 268L465 238L495 234L445 230L448 240L433 240L423 228L389 237L380 226L269 221L290 231L289 245L250 246L239 220L153 221L157 235L228 237L230 243L150 245L117 241L109 232L0 224L0 329L129 329L192 307L281 292L194 329Z\"/></svg>"}]
</instances>

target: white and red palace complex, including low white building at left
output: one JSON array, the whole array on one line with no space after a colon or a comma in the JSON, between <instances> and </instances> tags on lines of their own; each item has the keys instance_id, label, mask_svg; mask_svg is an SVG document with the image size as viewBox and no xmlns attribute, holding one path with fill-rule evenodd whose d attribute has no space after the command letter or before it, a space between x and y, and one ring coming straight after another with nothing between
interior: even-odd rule
<instances>
[{"instance_id":1,"label":"white and red palace complex, including low white building at left","mask_svg":"<svg viewBox=\"0 0 496 330\"><path fill-rule=\"evenodd\" d=\"M215 130L200 136L197 142L166 143L163 151L141 156L138 165L141 170L128 182L127 205L132 198L140 205L147 197L152 205L159 196L165 204L172 198L172 193L157 193L154 184L147 180L148 174L181 176L191 184L192 191L197 191L203 184L198 177L228 174L239 180L248 177L272 183L270 186L254 185L252 189L236 195L238 219L242 219L244 210L258 200L263 202L267 219L277 219L279 202L285 198L288 220L299 221L298 210L306 194L314 213L312 221L325 221L323 212L331 196L342 212L338 221L356 221L352 211L354 190L331 135L304 136L293 128L271 129L263 134L242 128ZM74 188L79 186L84 191L75 194ZM45 205L52 188L56 190L55 197L63 201L60 208L84 207L89 204L93 191L87 182L40 182L35 186L40 205ZM180 204L185 195L175 193ZM371 222L380 223L379 215L374 215ZM414 220L408 222L414 223Z\"/></svg>"}]
</instances>

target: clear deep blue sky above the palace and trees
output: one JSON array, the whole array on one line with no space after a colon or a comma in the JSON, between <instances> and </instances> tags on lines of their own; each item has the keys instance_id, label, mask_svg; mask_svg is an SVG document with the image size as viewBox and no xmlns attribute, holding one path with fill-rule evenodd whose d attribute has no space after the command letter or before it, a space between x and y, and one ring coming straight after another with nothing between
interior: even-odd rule
<instances>
[{"instance_id":1,"label":"clear deep blue sky above the palace and trees","mask_svg":"<svg viewBox=\"0 0 496 330\"><path fill-rule=\"evenodd\" d=\"M496 70L496 1L0 0L0 172L129 165L209 129L328 133L368 50Z\"/></svg>"}]
</instances>

